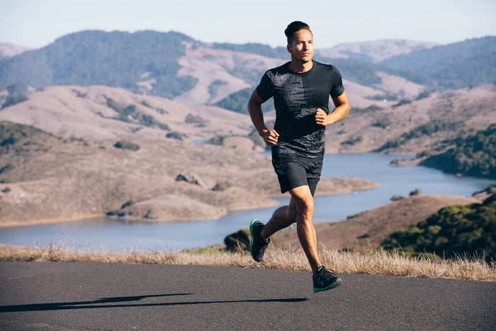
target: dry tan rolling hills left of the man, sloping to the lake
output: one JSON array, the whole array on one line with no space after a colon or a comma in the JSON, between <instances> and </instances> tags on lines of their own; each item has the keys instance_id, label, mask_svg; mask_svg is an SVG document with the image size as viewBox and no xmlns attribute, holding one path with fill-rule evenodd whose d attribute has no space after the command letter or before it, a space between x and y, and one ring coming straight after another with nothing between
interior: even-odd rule
<instances>
[{"instance_id":1,"label":"dry tan rolling hills left of the man, sloping to the lake","mask_svg":"<svg viewBox=\"0 0 496 331\"><path fill-rule=\"evenodd\" d=\"M270 206L278 186L251 130L239 113L108 86L33 92L0 111L0 226L106 213L203 220ZM208 143L217 135L222 145ZM324 179L320 191L373 186Z\"/></svg>"}]
</instances>

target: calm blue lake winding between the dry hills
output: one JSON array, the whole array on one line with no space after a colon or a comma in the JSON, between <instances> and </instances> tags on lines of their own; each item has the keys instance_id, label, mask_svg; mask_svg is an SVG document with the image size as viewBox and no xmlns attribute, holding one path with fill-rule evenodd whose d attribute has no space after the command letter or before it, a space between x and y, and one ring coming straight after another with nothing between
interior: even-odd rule
<instances>
[{"instance_id":1,"label":"calm blue lake winding between the dry hills","mask_svg":"<svg viewBox=\"0 0 496 331\"><path fill-rule=\"evenodd\" d=\"M398 155L337 154L326 155L322 176L358 177L381 185L378 189L355 191L337 196L315 198L315 223L346 220L368 209L390 202L395 195L408 196L420 189L421 194L471 196L495 181L456 177L427 167L390 167ZM318 188L317 188L318 190ZM286 204L288 198L280 198ZM81 220L50 225L0 228L0 243L28 247L47 247L62 242L67 247L112 251L177 251L219 244L224 237L259 218L266 221L276 207L235 211L218 220L177 223L126 223L107 218Z\"/></svg>"}]
</instances>

